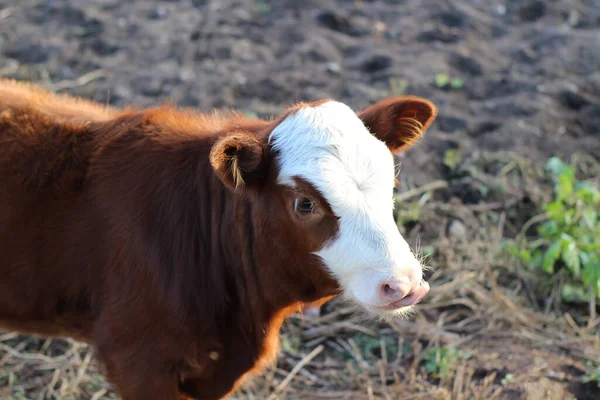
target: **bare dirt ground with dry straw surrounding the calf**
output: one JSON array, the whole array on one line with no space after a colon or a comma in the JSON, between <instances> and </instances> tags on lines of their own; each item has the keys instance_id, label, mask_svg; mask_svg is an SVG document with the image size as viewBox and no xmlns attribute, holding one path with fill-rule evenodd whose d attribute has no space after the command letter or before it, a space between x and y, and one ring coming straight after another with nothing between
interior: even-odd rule
<instances>
[{"instance_id":1,"label":"bare dirt ground with dry straw surrounding the calf","mask_svg":"<svg viewBox=\"0 0 600 400\"><path fill-rule=\"evenodd\" d=\"M499 253L549 195L548 157L599 173L600 1L0 0L0 74L259 117L299 100L432 100L398 188L399 228L433 250L431 295L396 324L341 302L293 317L277 366L237 398L600 398L581 379L599 326L536 296ZM440 375L445 349L464 357ZM0 398L113 396L88 347L0 333Z\"/></svg>"}]
</instances>

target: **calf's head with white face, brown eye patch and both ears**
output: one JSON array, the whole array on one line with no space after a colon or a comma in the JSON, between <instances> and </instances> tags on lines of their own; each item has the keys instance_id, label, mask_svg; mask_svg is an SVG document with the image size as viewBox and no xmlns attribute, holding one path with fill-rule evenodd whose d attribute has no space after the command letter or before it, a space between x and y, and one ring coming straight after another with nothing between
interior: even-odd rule
<instances>
[{"instance_id":1,"label":"calf's head with white face, brown eye patch and both ears","mask_svg":"<svg viewBox=\"0 0 600 400\"><path fill-rule=\"evenodd\" d=\"M264 132L222 137L211 163L226 185L253 193L272 252L287 253L306 275L326 271L364 309L396 316L429 285L393 218L393 155L436 114L432 103L410 96L360 113L335 101L299 104Z\"/></svg>"}]
</instances>

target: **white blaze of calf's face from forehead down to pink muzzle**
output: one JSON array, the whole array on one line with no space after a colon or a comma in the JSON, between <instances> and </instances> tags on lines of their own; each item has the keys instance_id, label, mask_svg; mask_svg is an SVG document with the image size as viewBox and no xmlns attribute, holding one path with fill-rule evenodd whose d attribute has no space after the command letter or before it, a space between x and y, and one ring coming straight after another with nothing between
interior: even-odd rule
<instances>
[{"instance_id":1,"label":"white blaze of calf's face from forehead down to pink muzzle","mask_svg":"<svg viewBox=\"0 0 600 400\"><path fill-rule=\"evenodd\" d=\"M310 182L339 217L316 254L346 296L382 316L410 310L429 290L393 218L394 159L348 106L330 101L289 115L270 137L278 182Z\"/></svg>"}]
</instances>

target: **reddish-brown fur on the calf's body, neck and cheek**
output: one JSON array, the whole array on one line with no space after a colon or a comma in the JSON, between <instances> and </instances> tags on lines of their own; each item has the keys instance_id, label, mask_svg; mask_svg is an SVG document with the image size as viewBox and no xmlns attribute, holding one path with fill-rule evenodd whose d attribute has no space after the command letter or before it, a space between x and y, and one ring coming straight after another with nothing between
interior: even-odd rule
<instances>
[{"instance_id":1,"label":"reddish-brown fur on the calf's body, neck and cheek","mask_svg":"<svg viewBox=\"0 0 600 400\"><path fill-rule=\"evenodd\" d=\"M275 185L284 117L116 110L0 79L0 326L94 344L125 400L234 391L286 316L339 290L311 254L336 217L294 218L298 196L326 202Z\"/></svg>"}]
</instances>

